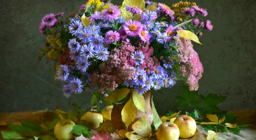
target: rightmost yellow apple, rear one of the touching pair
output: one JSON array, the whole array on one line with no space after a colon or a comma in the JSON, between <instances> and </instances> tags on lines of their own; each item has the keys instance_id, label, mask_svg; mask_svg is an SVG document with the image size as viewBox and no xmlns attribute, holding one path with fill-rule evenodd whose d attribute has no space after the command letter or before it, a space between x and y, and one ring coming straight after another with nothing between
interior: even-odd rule
<instances>
[{"instance_id":1,"label":"rightmost yellow apple, rear one of the touching pair","mask_svg":"<svg viewBox=\"0 0 256 140\"><path fill-rule=\"evenodd\" d=\"M177 117L174 120L180 130L180 138L190 138L196 133L196 121L185 114Z\"/></svg>"}]
</instances>

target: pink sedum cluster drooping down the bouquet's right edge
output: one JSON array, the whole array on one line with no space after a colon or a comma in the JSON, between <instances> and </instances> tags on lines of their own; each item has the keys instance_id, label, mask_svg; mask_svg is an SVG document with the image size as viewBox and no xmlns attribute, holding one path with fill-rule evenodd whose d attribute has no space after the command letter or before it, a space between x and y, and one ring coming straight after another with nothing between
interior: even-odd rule
<instances>
[{"instance_id":1,"label":"pink sedum cluster drooping down the bouquet's right edge","mask_svg":"<svg viewBox=\"0 0 256 140\"><path fill-rule=\"evenodd\" d=\"M181 75L188 76L187 83L189 90L196 91L199 88L198 80L204 72L203 65L199 60L197 52L193 49L191 40L186 40L179 35L174 37L175 48L180 61Z\"/></svg>"}]
</instances>

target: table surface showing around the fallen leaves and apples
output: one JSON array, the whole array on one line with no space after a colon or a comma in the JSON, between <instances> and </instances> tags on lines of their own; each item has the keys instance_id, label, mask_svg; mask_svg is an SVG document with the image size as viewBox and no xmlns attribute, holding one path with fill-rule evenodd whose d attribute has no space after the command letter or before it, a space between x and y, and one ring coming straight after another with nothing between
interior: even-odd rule
<instances>
[{"instance_id":1,"label":"table surface showing around the fallen leaves and apples","mask_svg":"<svg viewBox=\"0 0 256 140\"><path fill-rule=\"evenodd\" d=\"M230 135L229 133L217 133L220 137L225 139L234 139L234 140L256 139L256 110L230 111L229 113L236 113L236 115L239 117L237 119L237 124L246 122L249 124L253 124L253 126L248 126L247 128L241 128L239 135L237 134ZM18 124L19 120L32 121L32 122L41 124L39 120L40 117L42 117L43 120L47 122L52 121L54 118L56 118L53 112L47 111L47 110L0 113L0 130L10 131L7 124ZM197 125L196 134L192 138L188 138L188 140L207 139L207 134L208 134L207 131L205 131L203 127L201 127L200 125ZM0 133L0 139L3 139L1 133Z\"/></svg>"}]
</instances>

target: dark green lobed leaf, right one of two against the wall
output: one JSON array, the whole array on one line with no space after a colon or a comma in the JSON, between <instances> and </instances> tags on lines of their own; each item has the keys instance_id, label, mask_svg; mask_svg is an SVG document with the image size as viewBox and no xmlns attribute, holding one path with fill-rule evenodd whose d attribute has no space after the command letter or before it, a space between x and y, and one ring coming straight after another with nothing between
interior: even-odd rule
<instances>
[{"instance_id":1,"label":"dark green lobed leaf, right one of two against the wall","mask_svg":"<svg viewBox=\"0 0 256 140\"><path fill-rule=\"evenodd\" d=\"M201 102L204 106L206 113L216 114L221 112L221 109L216 107L216 105L223 103L226 100L226 96L218 96L217 94L208 94L206 97L201 95Z\"/></svg>"}]
</instances>

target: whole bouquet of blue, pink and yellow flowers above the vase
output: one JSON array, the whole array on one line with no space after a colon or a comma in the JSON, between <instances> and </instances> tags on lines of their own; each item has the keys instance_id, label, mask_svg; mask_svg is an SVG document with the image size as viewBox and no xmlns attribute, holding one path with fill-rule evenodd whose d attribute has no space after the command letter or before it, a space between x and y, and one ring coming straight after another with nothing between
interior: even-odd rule
<instances>
[{"instance_id":1,"label":"whole bouquet of blue, pink and yellow flowers above the vase","mask_svg":"<svg viewBox=\"0 0 256 140\"><path fill-rule=\"evenodd\" d=\"M203 73L191 40L212 31L205 9L194 2L170 7L150 1L123 1L122 6L89 0L79 11L43 17L39 31L47 43L39 53L53 61L55 80L64 95L114 91L128 87L142 95L171 88L184 80L199 88Z\"/></svg>"}]
</instances>

